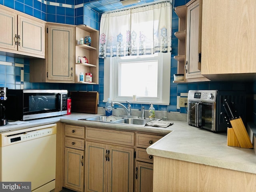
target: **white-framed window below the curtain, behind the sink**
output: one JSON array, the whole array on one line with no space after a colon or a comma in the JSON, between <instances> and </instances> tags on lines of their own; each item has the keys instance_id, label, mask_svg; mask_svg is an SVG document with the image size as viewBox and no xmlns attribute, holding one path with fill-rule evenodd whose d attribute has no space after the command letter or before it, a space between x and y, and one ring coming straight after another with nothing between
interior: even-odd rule
<instances>
[{"instance_id":1,"label":"white-framed window below the curtain, behind the sink","mask_svg":"<svg viewBox=\"0 0 256 192\"><path fill-rule=\"evenodd\" d=\"M132 103L170 102L170 53L124 56L104 60L104 100Z\"/></svg>"}]
</instances>

